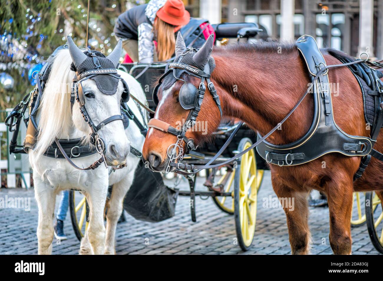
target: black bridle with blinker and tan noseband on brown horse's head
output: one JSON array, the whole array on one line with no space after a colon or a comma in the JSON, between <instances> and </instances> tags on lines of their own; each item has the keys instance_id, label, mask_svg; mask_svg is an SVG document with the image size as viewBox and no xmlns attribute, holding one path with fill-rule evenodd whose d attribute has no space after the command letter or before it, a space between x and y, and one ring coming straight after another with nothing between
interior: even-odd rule
<instances>
[{"instance_id":1,"label":"black bridle with blinker and tan noseband on brown horse's head","mask_svg":"<svg viewBox=\"0 0 383 281\"><path fill-rule=\"evenodd\" d=\"M194 48L189 48L186 49L181 56L187 54L187 52L195 52ZM193 76L198 76L201 78L200 85L198 86L198 89L191 83L186 82L183 79L180 79L176 76L175 70L176 69L182 69L185 70L188 74L193 75ZM180 88L178 99L180 102L180 105L182 106L183 109L190 110L189 114L187 116L185 124L183 124L181 130L178 130L177 128L172 127L170 124L159 120L152 118L149 123L148 127L149 128L155 128L158 130L161 130L162 132L165 133L170 133L172 135L177 136L177 141L176 143L170 145L167 149L167 156L169 157L169 162L167 164L165 172L168 173L170 171L170 163L175 163L177 159L182 160L183 159L183 143L182 141L185 142L185 153L187 153L190 150L195 150L198 146L195 146L194 140L192 138L187 138L185 136L186 132L195 124L196 119L198 117L198 113L201 110L201 104L203 101L203 98L205 97L205 91L206 91L206 86L205 86L205 80L208 84L209 91L211 95L213 96L214 101L216 102L216 105L219 109L219 113L221 114L222 117L222 108L221 108L221 101L219 100L219 96L217 94L216 89L214 88L213 82L210 81L210 67L209 64L207 63L205 66L205 71L208 71L209 73L206 73L205 71L202 71L196 67L193 67L191 65L185 64L185 63L171 63L169 65L169 70L164 73L164 75L161 76L159 79L159 83L157 86L155 86L153 90L153 101L155 105L158 104L158 96L157 92L159 87L162 84L162 81L164 78L170 74L170 72L173 72L173 76L176 80L183 81L183 85ZM178 148L178 153L177 153L177 148Z\"/></svg>"}]
</instances>

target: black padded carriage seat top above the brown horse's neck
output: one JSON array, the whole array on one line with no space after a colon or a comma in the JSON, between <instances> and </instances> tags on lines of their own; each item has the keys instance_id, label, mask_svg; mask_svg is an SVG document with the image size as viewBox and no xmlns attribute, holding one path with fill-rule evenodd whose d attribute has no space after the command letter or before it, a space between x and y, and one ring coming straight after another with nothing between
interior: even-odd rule
<instances>
[{"instance_id":1,"label":"black padded carriage seat top above the brown horse's neck","mask_svg":"<svg viewBox=\"0 0 383 281\"><path fill-rule=\"evenodd\" d=\"M212 24L212 26L218 40L223 38L236 38L238 35L246 38L254 37L261 31L256 23L220 23ZM241 34L239 34L239 32L241 32Z\"/></svg>"}]
</instances>

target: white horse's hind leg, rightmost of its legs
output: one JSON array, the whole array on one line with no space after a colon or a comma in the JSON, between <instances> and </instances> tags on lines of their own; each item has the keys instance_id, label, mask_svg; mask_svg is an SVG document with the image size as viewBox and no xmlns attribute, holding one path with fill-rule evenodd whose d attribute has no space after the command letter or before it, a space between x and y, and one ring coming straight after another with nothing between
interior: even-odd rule
<instances>
[{"instance_id":1,"label":"white horse's hind leg, rightmost of its legs","mask_svg":"<svg viewBox=\"0 0 383 281\"><path fill-rule=\"evenodd\" d=\"M113 185L112 194L106 212L106 239L105 239L105 255L115 255L115 235L116 226L119 217L123 211L123 200L132 185L134 177L134 169L129 172L122 180Z\"/></svg>"}]
</instances>

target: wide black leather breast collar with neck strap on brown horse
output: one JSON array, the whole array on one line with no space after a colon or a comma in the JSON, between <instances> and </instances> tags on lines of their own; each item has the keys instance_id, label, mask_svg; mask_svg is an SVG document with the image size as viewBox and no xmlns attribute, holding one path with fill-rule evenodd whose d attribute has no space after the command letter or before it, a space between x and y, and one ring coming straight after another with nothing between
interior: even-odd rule
<instances>
[{"instance_id":1,"label":"wide black leather breast collar with neck strap on brown horse","mask_svg":"<svg viewBox=\"0 0 383 281\"><path fill-rule=\"evenodd\" d=\"M300 37L296 44L312 81L318 71L326 67L326 62L313 37ZM285 145L262 141L257 146L262 158L270 164L291 166L310 162L332 152L346 156L366 156L371 152L373 141L370 138L349 135L336 125L327 71L316 81L313 97L314 119L308 132L299 140Z\"/></svg>"}]
</instances>

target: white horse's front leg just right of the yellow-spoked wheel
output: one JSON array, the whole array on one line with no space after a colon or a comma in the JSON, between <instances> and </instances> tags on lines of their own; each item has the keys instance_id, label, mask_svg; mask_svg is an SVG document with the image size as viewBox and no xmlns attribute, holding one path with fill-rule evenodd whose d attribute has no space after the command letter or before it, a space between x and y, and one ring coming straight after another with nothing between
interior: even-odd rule
<instances>
[{"instance_id":1,"label":"white horse's front leg just right of the yellow-spoked wheel","mask_svg":"<svg viewBox=\"0 0 383 281\"><path fill-rule=\"evenodd\" d=\"M87 230L87 238L92 245L95 255L104 253L105 244L105 226L104 226L104 208L106 193L108 192L108 178L102 179L101 182L95 182L87 192L90 217ZM85 242L84 242L85 243Z\"/></svg>"}]
</instances>

